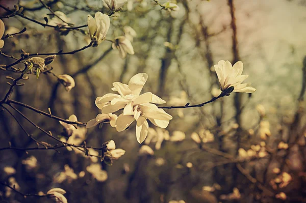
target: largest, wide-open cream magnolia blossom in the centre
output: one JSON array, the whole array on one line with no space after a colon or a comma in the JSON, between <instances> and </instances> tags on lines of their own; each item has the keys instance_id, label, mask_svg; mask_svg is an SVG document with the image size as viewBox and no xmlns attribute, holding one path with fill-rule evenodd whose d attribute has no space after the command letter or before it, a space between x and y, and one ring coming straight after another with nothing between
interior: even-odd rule
<instances>
[{"instance_id":1,"label":"largest, wide-open cream magnolia blossom in the centre","mask_svg":"<svg viewBox=\"0 0 306 203\"><path fill-rule=\"evenodd\" d=\"M96 99L96 106L103 113L113 113L123 108L123 113L116 121L118 132L125 130L133 121L137 121L136 138L139 143L143 142L148 134L147 119L161 128L166 128L169 120L172 119L171 115L155 105L166 103L166 101L150 92L140 95L147 78L146 73L139 73L130 79L128 85L114 82L112 90L117 91L119 95L110 93Z\"/></svg>"}]
</instances>

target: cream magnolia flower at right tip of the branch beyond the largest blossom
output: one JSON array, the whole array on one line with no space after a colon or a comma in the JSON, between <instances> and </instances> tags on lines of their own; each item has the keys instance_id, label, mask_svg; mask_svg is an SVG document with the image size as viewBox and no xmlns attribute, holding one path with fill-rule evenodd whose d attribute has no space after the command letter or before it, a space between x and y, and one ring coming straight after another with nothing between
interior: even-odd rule
<instances>
[{"instance_id":1,"label":"cream magnolia flower at right tip of the branch beyond the largest blossom","mask_svg":"<svg viewBox=\"0 0 306 203\"><path fill-rule=\"evenodd\" d=\"M234 92L253 93L256 91L256 89L250 87L251 83L241 84L248 77L248 75L242 75L243 64L241 61L234 66L229 61L219 61L218 65L215 65L215 70L222 92L231 86L234 87Z\"/></svg>"}]
</instances>

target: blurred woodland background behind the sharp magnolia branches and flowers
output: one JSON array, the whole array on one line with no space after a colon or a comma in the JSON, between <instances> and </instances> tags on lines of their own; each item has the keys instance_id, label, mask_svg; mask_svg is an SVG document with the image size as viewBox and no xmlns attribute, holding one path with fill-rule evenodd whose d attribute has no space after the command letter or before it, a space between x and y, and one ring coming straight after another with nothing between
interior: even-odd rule
<instances>
[{"instance_id":1,"label":"blurred woodland background behind the sharp magnolia branches and flowers","mask_svg":"<svg viewBox=\"0 0 306 203\"><path fill-rule=\"evenodd\" d=\"M65 13L74 26L87 24L88 14L109 12L100 0L43 2ZM134 55L121 59L110 41L73 55L58 55L47 67L56 75L74 78L70 92L53 74L41 74L39 79L29 75L24 86L15 88L13 99L45 112L50 108L64 119L75 114L86 123L100 112L96 97L113 93L113 82L127 83L135 74L147 73L142 92L158 95L167 105L198 104L219 95L213 66L220 60L242 61L243 74L249 75L246 82L252 82L257 92L231 93L199 108L166 110L173 117L168 128L149 124L142 144L136 140L135 123L124 132L109 125L79 127L79 134L69 137L70 143L86 141L92 147L114 140L126 152L111 166L71 148L1 150L9 142L12 147L37 147L11 115L2 111L0 181L15 185L22 193L46 193L60 187L66 190L68 202L306 202L306 1L172 3L180 11L161 10L154 1L128 0L119 15L111 17L107 39L124 35L125 26L132 27L137 33L132 42ZM18 4L25 16L43 23L44 17L52 20L36 0L0 4L11 9ZM1 49L17 58L20 49L72 51L90 43L87 27L81 28L83 32L67 32L20 16L2 20L5 35L27 27L23 34L5 39ZM6 65L14 62L3 56L0 60ZM1 99L9 89L5 76L19 74L0 70ZM63 132L58 121L17 107L54 136ZM35 139L56 144L19 114L15 117ZM0 201L52 202L24 199L2 185Z\"/></svg>"}]
</instances>

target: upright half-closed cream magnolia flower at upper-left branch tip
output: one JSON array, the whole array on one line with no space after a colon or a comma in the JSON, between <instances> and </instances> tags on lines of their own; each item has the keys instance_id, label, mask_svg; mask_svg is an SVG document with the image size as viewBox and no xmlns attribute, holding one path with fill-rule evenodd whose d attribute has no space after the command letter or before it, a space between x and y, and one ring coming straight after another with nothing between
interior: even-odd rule
<instances>
[{"instance_id":1,"label":"upright half-closed cream magnolia flower at upper-left branch tip","mask_svg":"<svg viewBox=\"0 0 306 203\"><path fill-rule=\"evenodd\" d=\"M87 17L89 35L93 46L98 46L106 38L106 34L110 28L110 17L101 12L96 12L94 18L91 15Z\"/></svg>"}]
</instances>

